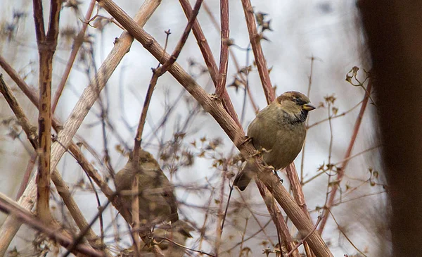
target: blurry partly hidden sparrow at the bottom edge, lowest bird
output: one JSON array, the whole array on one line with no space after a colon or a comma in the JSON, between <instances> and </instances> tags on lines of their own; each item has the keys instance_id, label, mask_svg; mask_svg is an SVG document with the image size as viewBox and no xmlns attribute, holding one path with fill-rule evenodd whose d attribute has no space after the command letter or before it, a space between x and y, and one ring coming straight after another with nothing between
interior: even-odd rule
<instances>
[{"instance_id":1,"label":"blurry partly hidden sparrow at the bottom edge, lowest bird","mask_svg":"<svg viewBox=\"0 0 422 257\"><path fill-rule=\"evenodd\" d=\"M140 253L143 257L154 257L155 253L152 252L152 246L154 244L160 247L164 256L167 257L182 257L184 256L185 249L178 246L180 244L182 246L186 245L186 239L191 238L192 232L194 229L191 225L188 225L187 222L184 220L177 220L176 222L172 223L171 225L161 225L156 227L150 237L153 238L153 244L146 245L141 242ZM166 240L170 239L170 241ZM177 244L173 244L177 243ZM130 249L125 249L122 251L120 257L132 257L135 256L134 254L134 247Z\"/></svg>"}]
</instances>

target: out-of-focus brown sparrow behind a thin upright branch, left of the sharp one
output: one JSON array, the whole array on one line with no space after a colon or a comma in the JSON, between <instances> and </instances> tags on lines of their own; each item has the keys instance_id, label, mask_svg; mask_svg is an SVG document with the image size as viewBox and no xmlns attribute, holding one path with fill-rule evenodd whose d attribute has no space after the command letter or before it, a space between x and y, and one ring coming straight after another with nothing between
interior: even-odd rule
<instances>
[{"instance_id":1,"label":"out-of-focus brown sparrow behind a thin upright branch, left of the sharp one","mask_svg":"<svg viewBox=\"0 0 422 257\"><path fill-rule=\"evenodd\" d=\"M176 222L176 197L173 187L160 165L151 153L139 153L139 168L134 167L134 160L129 157L127 164L115 175L115 186L127 207L132 206L132 180L139 176L139 222L153 226L160 222Z\"/></svg>"}]
</instances>

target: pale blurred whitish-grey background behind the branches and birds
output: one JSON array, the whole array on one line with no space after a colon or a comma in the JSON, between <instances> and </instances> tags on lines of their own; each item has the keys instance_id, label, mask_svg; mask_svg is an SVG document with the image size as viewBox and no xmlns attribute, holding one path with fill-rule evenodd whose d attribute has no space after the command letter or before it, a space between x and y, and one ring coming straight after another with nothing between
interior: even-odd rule
<instances>
[{"instance_id":1,"label":"pale blurred whitish-grey background behind the branches and birds","mask_svg":"<svg viewBox=\"0 0 422 257\"><path fill-rule=\"evenodd\" d=\"M131 17L142 4L142 1L115 2ZM192 5L194 3L191 1ZM73 39L82 27L88 4L89 1L73 0L63 4L58 49L53 63L53 94L65 69ZM198 20L218 61L219 2L205 0L204 4L206 6L201 8ZM229 58L226 84L246 130L255 118L255 111L267 106L267 101L250 51L241 1L231 0L229 5L229 37L234 45L230 47L233 55ZM0 54L27 84L37 88L39 65L32 2L4 0L2 6ZM49 3L45 1L44 6L44 18L48 18L46 10ZM308 94L312 104L318 106L309 115L305 148L295 160L313 222L324 213L322 209L333 184L338 184L331 213L326 213L328 220L322 234L333 255L388 256L391 251L386 222L389 208L381 166L375 96L371 96L364 108L352 153L345 157L356 132L354 125L368 83L366 72L371 70L356 1L252 1L252 6L255 14L262 13L264 21L269 23L270 29L264 30L261 43L276 95L290 90L300 91ZM94 14L96 11L94 8ZM111 16L106 11L99 8L98 15L101 18L90 23L92 26L87 30L85 42L58 102L55 115L62 122L68 118L89 80L113 48L115 38L122 33L120 27L110 22ZM213 19L217 20L217 25ZM144 29L161 45L165 44L165 30L170 30L167 51L172 52L186 23L178 1L162 1ZM239 68L234 65L235 60ZM210 94L214 92L203 56L192 34L177 62L203 89ZM82 144L83 153L104 177L110 178L110 170L104 165L105 149L114 172L127 161L151 80L151 68L157 65L158 61L135 41L101 93L101 101L91 108L77 132L74 142ZM346 77L353 75L354 67L359 68L359 81L353 78L352 84L347 82ZM4 73L4 70L0 68L0 72ZM18 96L32 124L36 124L37 109L5 73L4 79ZM237 83L238 80L247 83ZM363 84L359 85L360 82ZM245 96L246 86L252 98ZM106 113L106 118L102 119L101 113ZM13 199L34 152L14 117L6 101L0 101L0 189ZM229 184L233 181L226 176L222 163L231 163L229 173L236 174L241 163L233 161L233 158L238 150L217 122L169 73L160 77L153 93L142 147L155 156L174 184L181 219L196 227L186 246L212 252L217 213L220 208L226 208L230 192L227 180ZM338 169L343 167L345 158L348 163L340 181ZM93 208L97 202L84 171L69 153L61 159L58 170L90 220L97 212ZM281 171L279 175L283 185L289 188L286 173ZM112 180L109 184L114 187ZM71 224L68 211L54 190L52 197L55 200L51 203L55 218ZM100 198L106 201L104 196ZM117 211L108 207L104 215L106 244L116 253L129 247L127 227L122 225L123 220ZM0 215L0 222L4 218L6 215ZM290 220L287 221L290 233L295 239L300 239L298 231ZM97 223L94 225L96 232L99 231ZM9 249L16 247L22 256L31 256L34 254L33 240L34 234L28 233L23 226ZM260 256L267 247L274 249L277 241L276 229L255 184L242 193L234 189L219 254ZM303 251L302 247L300 251ZM198 255L189 251L186 254ZM274 253L271 254L274 256Z\"/></svg>"}]
</instances>

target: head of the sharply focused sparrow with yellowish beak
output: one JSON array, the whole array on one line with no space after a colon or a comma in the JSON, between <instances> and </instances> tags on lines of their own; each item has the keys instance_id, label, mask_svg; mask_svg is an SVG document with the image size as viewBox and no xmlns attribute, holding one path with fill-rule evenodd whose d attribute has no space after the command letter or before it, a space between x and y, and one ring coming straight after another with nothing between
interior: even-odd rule
<instances>
[{"instance_id":1,"label":"head of the sharply focused sparrow with yellowish beak","mask_svg":"<svg viewBox=\"0 0 422 257\"><path fill-rule=\"evenodd\" d=\"M314 110L315 106L309 103L310 100L305 94L295 91L285 92L276 99L276 104L279 104L283 111L297 122L305 122L307 113Z\"/></svg>"}]
</instances>

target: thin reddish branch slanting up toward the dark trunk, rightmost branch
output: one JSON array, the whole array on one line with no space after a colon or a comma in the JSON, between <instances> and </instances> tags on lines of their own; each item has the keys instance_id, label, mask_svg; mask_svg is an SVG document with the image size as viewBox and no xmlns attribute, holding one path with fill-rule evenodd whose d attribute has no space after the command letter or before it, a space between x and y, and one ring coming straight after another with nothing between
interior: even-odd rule
<instances>
[{"instance_id":1,"label":"thin reddish branch slanting up toward the dark trunk, rightmost branch","mask_svg":"<svg viewBox=\"0 0 422 257\"><path fill-rule=\"evenodd\" d=\"M347 147L347 151L345 153L345 158L344 158L345 161L343 162L343 165L341 166L341 168L339 168L337 171L337 180L335 183L332 183L331 192L328 196L328 201L326 202L326 205L324 206L324 213L322 215L321 225L319 225L319 228L318 228L318 232L320 234L322 234L322 232L324 231L324 227L328 220L328 213L334 203L335 194L337 194L338 188L340 187L340 182L343 180L343 176L345 175L345 170L350 160L349 157L352 154L354 142L356 142L357 133L359 132L359 127L362 123L362 118L364 117L366 105L368 104L368 101L369 101L371 88L372 88L372 79L370 77L369 82L368 82L368 87L366 87L364 100L362 101L362 106L359 111L359 115L357 115L356 122L354 123L352 138L350 139L349 146Z\"/></svg>"}]
</instances>

